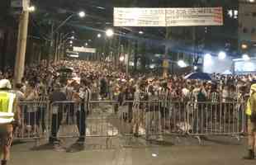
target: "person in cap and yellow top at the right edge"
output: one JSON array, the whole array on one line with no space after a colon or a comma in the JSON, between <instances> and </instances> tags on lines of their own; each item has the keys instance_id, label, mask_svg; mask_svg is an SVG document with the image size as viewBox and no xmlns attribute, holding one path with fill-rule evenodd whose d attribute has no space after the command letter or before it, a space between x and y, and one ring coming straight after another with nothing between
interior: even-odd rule
<instances>
[{"instance_id":1,"label":"person in cap and yellow top at the right edge","mask_svg":"<svg viewBox=\"0 0 256 165\"><path fill-rule=\"evenodd\" d=\"M256 147L256 83L250 88L250 97L247 102L246 115L248 115L248 144L249 154L244 159L254 159Z\"/></svg>"}]
</instances>

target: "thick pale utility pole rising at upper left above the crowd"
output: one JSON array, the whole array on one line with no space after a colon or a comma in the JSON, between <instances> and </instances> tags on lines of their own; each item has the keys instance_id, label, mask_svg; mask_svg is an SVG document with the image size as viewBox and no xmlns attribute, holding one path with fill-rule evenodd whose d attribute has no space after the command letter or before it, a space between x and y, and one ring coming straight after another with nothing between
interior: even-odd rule
<instances>
[{"instance_id":1,"label":"thick pale utility pole rising at upper left above the crowd","mask_svg":"<svg viewBox=\"0 0 256 165\"><path fill-rule=\"evenodd\" d=\"M30 4L29 1L27 1L27 6L29 6L29 4ZM15 83L21 82L21 78L24 75L28 22L29 22L29 10L25 9L21 12L21 16L19 20L19 30L18 30L18 37L17 37L17 54L16 54L16 61L15 61L15 68L14 68Z\"/></svg>"}]
</instances>

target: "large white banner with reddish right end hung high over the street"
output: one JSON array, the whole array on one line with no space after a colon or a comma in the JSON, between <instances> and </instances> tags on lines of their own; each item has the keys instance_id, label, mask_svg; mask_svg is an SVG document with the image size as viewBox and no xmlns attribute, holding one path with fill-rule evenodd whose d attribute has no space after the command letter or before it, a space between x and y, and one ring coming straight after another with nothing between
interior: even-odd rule
<instances>
[{"instance_id":1,"label":"large white banner with reddish right end hung high over the street","mask_svg":"<svg viewBox=\"0 0 256 165\"><path fill-rule=\"evenodd\" d=\"M222 26L222 7L114 8L114 26Z\"/></svg>"}]
</instances>

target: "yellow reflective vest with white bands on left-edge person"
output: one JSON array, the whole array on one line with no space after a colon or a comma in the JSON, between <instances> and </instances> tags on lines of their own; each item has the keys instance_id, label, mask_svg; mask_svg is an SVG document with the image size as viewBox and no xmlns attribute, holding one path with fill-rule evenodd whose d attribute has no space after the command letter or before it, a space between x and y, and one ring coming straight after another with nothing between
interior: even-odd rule
<instances>
[{"instance_id":1,"label":"yellow reflective vest with white bands on left-edge person","mask_svg":"<svg viewBox=\"0 0 256 165\"><path fill-rule=\"evenodd\" d=\"M15 98L16 95L12 92L0 91L0 124L11 123L14 120Z\"/></svg>"}]
</instances>

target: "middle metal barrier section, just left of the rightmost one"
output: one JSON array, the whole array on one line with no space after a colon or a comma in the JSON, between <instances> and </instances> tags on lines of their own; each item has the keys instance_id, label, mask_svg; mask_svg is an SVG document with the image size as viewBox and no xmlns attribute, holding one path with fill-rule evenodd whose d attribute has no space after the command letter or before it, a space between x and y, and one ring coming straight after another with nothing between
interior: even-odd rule
<instances>
[{"instance_id":1,"label":"middle metal barrier section, just left of the rightmost one","mask_svg":"<svg viewBox=\"0 0 256 165\"><path fill-rule=\"evenodd\" d=\"M186 104L172 101L125 101L121 107L121 134L163 139L187 134Z\"/></svg>"}]
</instances>

